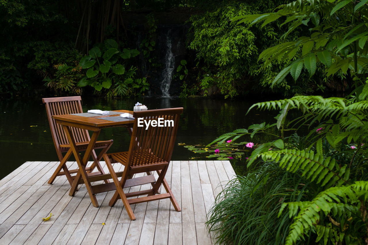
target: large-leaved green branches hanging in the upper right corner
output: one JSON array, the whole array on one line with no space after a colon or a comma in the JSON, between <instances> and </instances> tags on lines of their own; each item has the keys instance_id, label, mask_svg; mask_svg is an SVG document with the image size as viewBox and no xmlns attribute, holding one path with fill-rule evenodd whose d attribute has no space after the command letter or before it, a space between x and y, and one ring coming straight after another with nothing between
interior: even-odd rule
<instances>
[{"instance_id":1,"label":"large-leaved green branches hanging in the upper right corner","mask_svg":"<svg viewBox=\"0 0 368 245\"><path fill-rule=\"evenodd\" d=\"M273 80L274 86L282 83L288 74L297 80L303 69L312 76L318 64L322 65L326 76L337 72L340 77L350 76L349 69L355 75L364 73L368 63L366 3L365 0L294 1L280 5L276 12L239 16L233 20L262 28L282 19L280 26L288 26L282 35L285 40L300 26L309 29L308 35L269 47L259 55L264 66L275 61L288 64Z\"/></svg>"}]
</instances>

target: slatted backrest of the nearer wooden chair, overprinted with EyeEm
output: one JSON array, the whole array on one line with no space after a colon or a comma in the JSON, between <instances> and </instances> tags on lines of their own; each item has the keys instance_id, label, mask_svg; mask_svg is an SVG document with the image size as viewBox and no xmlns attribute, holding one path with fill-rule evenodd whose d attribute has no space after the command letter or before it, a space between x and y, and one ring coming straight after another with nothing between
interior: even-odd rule
<instances>
[{"instance_id":1,"label":"slatted backrest of the nearer wooden chair, overprinted with EyeEm","mask_svg":"<svg viewBox=\"0 0 368 245\"><path fill-rule=\"evenodd\" d=\"M182 112L182 107L134 112L135 119L127 165L169 163Z\"/></svg>"}]
</instances>

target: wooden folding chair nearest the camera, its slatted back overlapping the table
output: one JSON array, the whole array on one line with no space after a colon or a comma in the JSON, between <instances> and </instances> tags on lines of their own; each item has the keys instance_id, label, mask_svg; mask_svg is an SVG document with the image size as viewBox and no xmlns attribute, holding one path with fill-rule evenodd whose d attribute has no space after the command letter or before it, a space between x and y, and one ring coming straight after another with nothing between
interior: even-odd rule
<instances>
[{"instance_id":1,"label":"wooden folding chair nearest the camera, its slatted back overlapping the table","mask_svg":"<svg viewBox=\"0 0 368 245\"><path fill-rule=\"evenodd\" d=\"M183 108L134 112L133 117L135 119L129 151L103 155L112 179L114 180L114 184L116 185L116 192L110 200L109 205L114 206L117 199L121 199L131 220L135 220L134 213L130 207L130 205L134 203L170 198L175 210L178 212L181 211L173 192L171 192L171 189L164 177L173 153L179 116L182 112ZM146 122L149 120L155 120L159 124L162 120L163 127L154 127L150 124L146 129L146 125L143 122L143 127L138 127L138 118L146 120ZM165 122L165 120L167 121ZM114 162L120 162L125 166L120 181L118 180L117 173L114 172L112 166L112 163ZM150 171L156 171L158 173L157 180ZM147 173L147 175L132 178L133 174L136 173ZM125 193L123 190L123 188L126 187L149 183L151 183L152 188L149 188L148 190L128 193ZM167 193L159 194L161 184L163 184ZM145 196L127 199L129 197L141 195Z\"/></svg>"}]
</instances>

